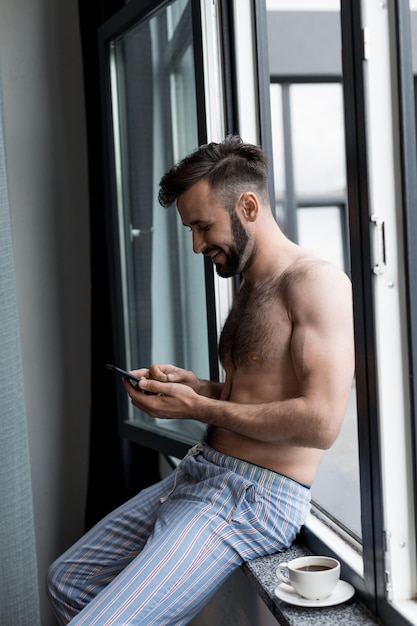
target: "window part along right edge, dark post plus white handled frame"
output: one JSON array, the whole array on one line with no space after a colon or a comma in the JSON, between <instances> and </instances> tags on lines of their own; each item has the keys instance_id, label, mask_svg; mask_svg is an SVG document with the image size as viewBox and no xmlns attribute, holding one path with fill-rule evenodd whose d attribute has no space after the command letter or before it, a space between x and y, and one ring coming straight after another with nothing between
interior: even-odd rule
<instances>
[{"instance_id":1,"label":"window part along right edge, dark post plus white handled frame","mask_svg":"<svg viewBox=\"0 0 417 626\"><path fill-rule=\"evenodd\" d=\"M364 593L384 623L416 623L417 172L407 3L342 3L342 29Z\"/></svg>"}]
</instances>

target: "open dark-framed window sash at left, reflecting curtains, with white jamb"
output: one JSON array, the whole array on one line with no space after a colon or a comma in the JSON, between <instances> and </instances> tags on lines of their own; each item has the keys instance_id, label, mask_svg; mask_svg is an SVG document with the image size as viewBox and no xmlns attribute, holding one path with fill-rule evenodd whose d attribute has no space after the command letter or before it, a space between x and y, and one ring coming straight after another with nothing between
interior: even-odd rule
<instances>
[{"instance_id":1,"label":"open dark-framed window sash at left, reflecting curtains, with white jamb","mask_svg":"<svg viewBox=\"0 0 417 626\"><path fill-rule=\"evenodd\" d=\"M172 362L201 378L222 376L217 339L234 281L220 279L209 259L193 253L175 208L159 206L158 184L200 143L222 139L226 119L235 127L236 111L251 139L260 136L253 21L261 10L252 4L239 0L237 11L226 2L136 0L100 29L116 365L124 369ZM239 107L231 97L224 102L226 81L233 91L223 72L231 39L242 74L233 81L250 92L236 95ZM172 456L182 457L205 432L197 421L148 417L127 403L122 388L119 404L123 435Z\"/></svg>"}]
</instances>

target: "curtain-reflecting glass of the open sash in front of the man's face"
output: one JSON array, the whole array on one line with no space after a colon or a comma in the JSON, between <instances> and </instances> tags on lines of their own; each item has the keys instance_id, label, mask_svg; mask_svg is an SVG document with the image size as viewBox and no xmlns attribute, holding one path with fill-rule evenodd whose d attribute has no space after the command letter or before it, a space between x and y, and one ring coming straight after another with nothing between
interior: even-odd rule
<instances>
[{"instance_id":1,"label":"curtain-reflecting glass of the open sash in front of the man's face","mask_svg":"<svg viewBox=\"0 0 417 626\"><path fill-rule=\"evenodd\" d=\"M112 44L112 100L128 369L174 363L209 377L203 258L175 207L158 203L171 165L198 145L191 2L165 6ZM179 132L181 129L181 132ZM194 443L199 422L129 420Z\"/></svg>"}]
</instances>

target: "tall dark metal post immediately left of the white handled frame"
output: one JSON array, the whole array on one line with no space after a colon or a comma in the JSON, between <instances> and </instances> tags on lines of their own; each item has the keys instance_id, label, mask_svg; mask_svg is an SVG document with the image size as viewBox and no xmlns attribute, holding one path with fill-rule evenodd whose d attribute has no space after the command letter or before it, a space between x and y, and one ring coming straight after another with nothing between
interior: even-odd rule
<instances>
[{"instance_id":1,"label":"tall dark metal post immediately left of the white handled frame","mask_svg":"<svg viewBox=\"0 0 417 626\"><path fill-rule=\"evenodd\" d=\"M345 143L348 179L351 271L353 282L359 461L364 582L363 599L376 613L385 592L382 528L382 477L378 430L368 155L362 75L363 33L360 4L341 2ZM382 574L382 575L381 575Z\"/></svg>"}]
</instances>

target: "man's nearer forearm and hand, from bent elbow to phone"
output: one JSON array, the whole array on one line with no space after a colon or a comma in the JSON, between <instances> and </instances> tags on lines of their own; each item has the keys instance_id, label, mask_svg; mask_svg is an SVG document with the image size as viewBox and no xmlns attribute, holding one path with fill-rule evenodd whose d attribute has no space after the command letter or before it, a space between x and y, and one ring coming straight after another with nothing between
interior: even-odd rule
<instances>
[{"instance_id":1,"label":"man's nearer forearm and hand, from bent elbow to phone","mask_svg":"<svg viewBox=\"0 0 417 626\"><path fill-rule=\"evenodd\" d=\"M145 395L125 384L135 406L151 417L196 419L257 441L285 446L327 449L335 441L346 403L339 397L300 395L288 400L246 403L220 400L222 383L192 384L141 381ZM218 397L215 397L218 396ZM344 394L341 394L344 396Z\"/></svg>"}]
</instances>

